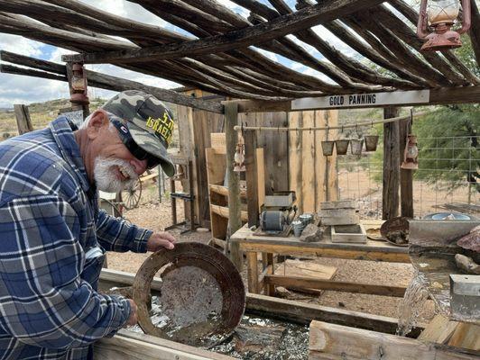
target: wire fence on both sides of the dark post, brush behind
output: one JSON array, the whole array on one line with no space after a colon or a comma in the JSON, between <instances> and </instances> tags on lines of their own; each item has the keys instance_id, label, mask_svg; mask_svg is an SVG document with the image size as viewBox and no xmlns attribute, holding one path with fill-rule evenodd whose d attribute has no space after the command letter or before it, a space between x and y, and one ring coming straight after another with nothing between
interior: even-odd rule
<instances>
[{"instance_id":1,"label":"wire fence on both sides of the dark post, brush behind","mask_svg":"<svg viewBox=\"0 0 480 360\"><path fill-rule=\"evenodd\" d=\"M416 218L440 211L475 213L480 208L478 136L418 138L419 169L413 176ZM362 156L338 156L339 200L358 201L364 218L382 218L383 144Z\"/></svg>"}]
</instances>

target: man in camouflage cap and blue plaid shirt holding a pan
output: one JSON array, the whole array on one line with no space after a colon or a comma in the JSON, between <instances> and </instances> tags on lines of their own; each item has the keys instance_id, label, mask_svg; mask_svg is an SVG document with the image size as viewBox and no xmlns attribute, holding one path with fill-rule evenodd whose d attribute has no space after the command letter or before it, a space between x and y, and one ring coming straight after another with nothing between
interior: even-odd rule
<instances>
[{"instance_id":1,"label":"man in camouflage cap and blue plaid shirt holding a pan","mask_svg":"<svg viewBox=\"0 0 480 360\"><path fill-rule=\"evenodd\" d=\"M91 345L136 323L134 302L97 293L105 251L173 248L168 233L98 211L143 172L174 167L171 112L125 91L79 130L60 117L0 144L0 359L88 359Z\"/></svg>"}]
</instances>

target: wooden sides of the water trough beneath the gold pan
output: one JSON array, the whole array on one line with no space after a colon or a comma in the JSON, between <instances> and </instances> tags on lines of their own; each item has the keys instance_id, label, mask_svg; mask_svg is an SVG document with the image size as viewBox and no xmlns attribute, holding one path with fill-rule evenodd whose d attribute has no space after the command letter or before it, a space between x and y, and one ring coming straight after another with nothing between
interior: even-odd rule
<instances>
[{"instance_id":1,"label":"wooden sides of the water trough beneath the gold pan","mask_svg":"<svg viewBox=\"0 0 480 360\"><path fill-rule=\"evenodd\" d=\"M133 283L134 274L103 269L99 287L102 291L112 287L130 286ZM160 281L153 279L152 294L158 292L160 288ZM247 293L245 312L305 325L308 325L312 320L319 320L346 326L349 329L353 327L377 330L387 334L394 334L397 329L397 320L393 318L277 299L253 293ZM422 329L421 326L413 329L412 336L418 336ZM137 334L125 329L119 331L114 338L99 340L95 347L95 358L102 360L232 359L230 356L220 355L197 347L188 347L163 338Z\"/></svg>"}]
</instances>

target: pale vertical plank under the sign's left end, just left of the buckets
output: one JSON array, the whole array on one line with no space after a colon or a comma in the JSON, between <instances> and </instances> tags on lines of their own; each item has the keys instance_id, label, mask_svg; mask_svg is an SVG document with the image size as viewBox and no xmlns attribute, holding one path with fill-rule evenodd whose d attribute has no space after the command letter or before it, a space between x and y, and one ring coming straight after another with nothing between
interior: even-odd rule
<instances>
[{"instance_id":1,"label":"pale vertical plank under the sign's left end, just left of the buckets","mask_svg":"<svg viewBox=\"0 0 480 360\"><path fill-rule=\"evenodd\" d=\"M303 127L315 127L315 112L303 112ZM302 131L301 137L302 186L297 196L303 198L302 212L315 211L316 168L315 168L315 131Z\"/></svg>"}]
</instances>

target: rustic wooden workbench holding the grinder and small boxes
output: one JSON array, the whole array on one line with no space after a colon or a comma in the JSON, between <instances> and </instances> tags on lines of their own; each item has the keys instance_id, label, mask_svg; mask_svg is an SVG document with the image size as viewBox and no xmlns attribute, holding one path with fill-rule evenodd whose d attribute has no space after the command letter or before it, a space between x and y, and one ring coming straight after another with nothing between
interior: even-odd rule
<instances>
[{"instance_id":1,"label":"rustic wooden workbench holding the grinder and small boxes","mask_svg":"<svg viewBox=\"0 0 480 360\"><path fill-rule=\"evenodd\" d=\"M274 286L303 287L310 289L334 290L348 293L370 293L385 296L402 297L405 288L401 286L383 286L318 280L305 277L274 275L273 254L278 255L315 255L317 257L337 257L355 260L387 261L408 263L408 247L396 247L386 241L367 240L366 244L332 243L328 237L319 242L302 242L298 238L258 236L246 225L232 235L230 241L238 243L246 253L248 291L270 295ZM262 253L263 272L259 276L257 255Z\"/></svg>"}]
</instances>

